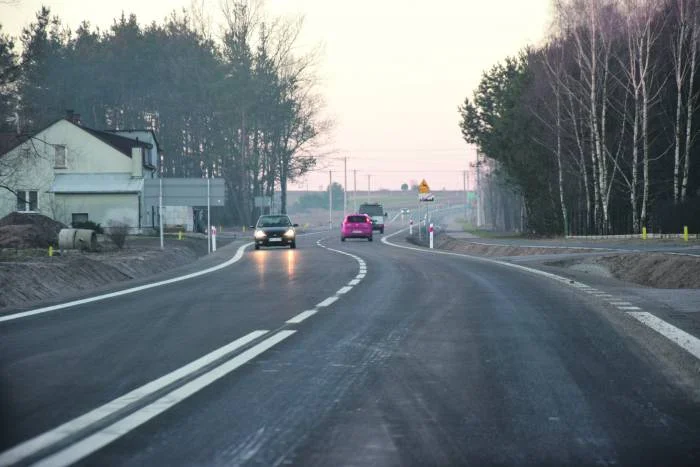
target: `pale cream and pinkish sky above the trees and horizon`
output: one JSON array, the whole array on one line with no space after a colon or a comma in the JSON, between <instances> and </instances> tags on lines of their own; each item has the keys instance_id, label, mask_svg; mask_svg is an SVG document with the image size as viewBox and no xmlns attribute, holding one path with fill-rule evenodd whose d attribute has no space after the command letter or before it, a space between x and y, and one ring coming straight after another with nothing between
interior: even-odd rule
<instances>
[{"instance_id":1,"label":"pale cream and pinkish sky above the trees and horizon","mask_svg":"<svg viewBox=\"0 0 700 467\"><path fill-rule=\"evenodd\" d=\"M198 0L216 23L220 0ZM18 35L42 4L72 29L107 28L122 11L161 21L191 0L0 1L3 31ZM457 106L481 73L545 37L551 0L268 0L272 15L302 15L300 49L322 46L319 92L335 121L329 150L348 157L348 188L399 189L425 178L433 190L462 188L474 150ZM217 31L216 27L214 30ZM297 187L343 183L341 161L321 162ZM292 189L297 187L290 187Z\"/></svg>"}]
</instances>

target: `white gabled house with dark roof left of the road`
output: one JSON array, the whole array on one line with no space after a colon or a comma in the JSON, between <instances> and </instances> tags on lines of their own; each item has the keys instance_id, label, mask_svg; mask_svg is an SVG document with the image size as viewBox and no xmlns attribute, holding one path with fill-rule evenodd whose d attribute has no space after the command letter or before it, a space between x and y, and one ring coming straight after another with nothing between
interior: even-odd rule
<instances>
[{"instance_id":1,"label":"white gabled house with dark roof left of the road","mask_svg":"<svg viewBox=\"0 0 700 467\"><path fill-rule=\"evenodd\" d=\"M0 155L0 217L38 212L65 224L158 224L145 212L144 177L156 178L158 142L150 131L100 131L72 116L17 140Z\"/></svg>"}]
</instances>

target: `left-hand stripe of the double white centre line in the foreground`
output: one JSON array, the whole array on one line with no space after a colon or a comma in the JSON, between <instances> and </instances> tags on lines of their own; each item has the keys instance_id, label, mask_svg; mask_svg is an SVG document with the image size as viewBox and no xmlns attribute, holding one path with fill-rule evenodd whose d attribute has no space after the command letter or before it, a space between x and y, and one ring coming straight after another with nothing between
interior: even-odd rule
<instances>
[{"instance_id":1,"label":"left-hand stripe of the double white centre line in the foreground","mask_svg":"<svg viewBox=\"0 0 700 467\"><path fill-rule=\"evenodd\" d=\"M32 439L24 441L17 446L10 448L9 450L0 453L0 466L7 466L25 459L42 449L45 449L59 441L62 441L69 436L78 433L81 430L89 427L95 422L98 422L119 410L137 402L144 397L147 397L156 391L178 381L182 378L194 373L195 371L204 368L212 362L215 362L219 358L225 356L226 354L233 352L234 350L243 347L244 345L254 341L255 339L267 334L267 330L253 331L235 341L219 347L218 349L209 352L203 357L198 358L185 366L178 368L177 370L171 371L170 373L161 376L143 386L136 388L121 397L118 397L106 404L91 410L90 412L81 415L73 420L66 422L58 427L47 431L41 435L38 435Z\"/></svg>"}]
</instances>

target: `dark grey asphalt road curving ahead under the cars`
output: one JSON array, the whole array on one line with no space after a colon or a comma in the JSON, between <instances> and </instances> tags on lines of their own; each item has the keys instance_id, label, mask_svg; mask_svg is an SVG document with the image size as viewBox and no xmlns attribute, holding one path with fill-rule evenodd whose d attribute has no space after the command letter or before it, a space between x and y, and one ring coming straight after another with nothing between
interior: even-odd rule
<instances>
[{"instance_id":1,"label":"dark grey asphalt road curving ahead under the cars","mask_svg":"<svg viewBox=\"0 0 700 467\"><path fill-rule=\"evenodd\" d=\"M0 465L700 465L695 357L572 287L378 237L0 322Z\"/></svg>"}]
</instances>

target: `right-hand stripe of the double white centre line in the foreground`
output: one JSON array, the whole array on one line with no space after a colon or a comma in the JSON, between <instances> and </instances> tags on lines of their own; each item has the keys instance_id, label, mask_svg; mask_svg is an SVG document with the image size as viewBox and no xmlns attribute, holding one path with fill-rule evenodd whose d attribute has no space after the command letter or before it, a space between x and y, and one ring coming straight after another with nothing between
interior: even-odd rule
<instances>
[{"instance_id":1,"label":"right-hand stripe of the double white centre line in the foreground","mask_svg":"<svg viewBox=\"0 0 700 467\"><path fill-rule=\"evenodd\" d=\"M136 412L122 418L116 423L103 428L102 430L88 436L87 438L78 441L75 444L37 462L36 466L67 466L71 465L80 459L89 456L95 451L107 446L113 441L121 438L130 431L138 428L152 418L160 415L169 408L179 404L191 395L204 389L215 381L223 378L237 368L248 363L266 350L279 344L296 331L280 331L277 334L265 339L259 344L251 347L245 352L233 357L225 363L211 371L193 379L192 381L182 385L181 387L169 392L160 399L151 404L137 410Z\"/></svg>"}]
</instances>

